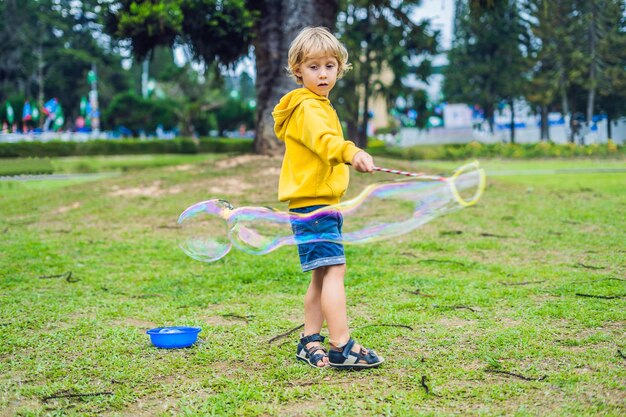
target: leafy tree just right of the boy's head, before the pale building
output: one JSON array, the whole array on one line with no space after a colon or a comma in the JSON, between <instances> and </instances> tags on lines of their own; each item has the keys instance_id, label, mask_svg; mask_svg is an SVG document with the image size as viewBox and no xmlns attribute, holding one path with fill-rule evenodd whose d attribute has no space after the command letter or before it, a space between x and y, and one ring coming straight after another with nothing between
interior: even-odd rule
<instances>
[{"instance_id":1,"label":"leafy tree just right of the boy's head, before the pale building","mask_svg":"<svg viewBox=\"0 0 626 417\"><path fill-rule=\"evenodd\" d=\"M348 137L361 147L367 146L370 97L381 96L391 104L411 94L404 82L408 75L422 80L430 75L430 61L418 58L436 52L437 33L429 33L428 22L411 19L420 3L353 0L343 4L338 29L353 70L338 83L337 103ZM388 74L390 81L384 79Z\"/></svg>"}]
</instances>

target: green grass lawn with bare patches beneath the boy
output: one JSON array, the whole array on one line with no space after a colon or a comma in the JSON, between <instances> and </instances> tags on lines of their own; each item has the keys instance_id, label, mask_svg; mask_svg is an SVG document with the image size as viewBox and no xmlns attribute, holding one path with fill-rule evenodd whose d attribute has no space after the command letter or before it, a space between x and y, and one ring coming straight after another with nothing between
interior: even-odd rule
<instances>
[{"instance_id":1,"label":"green grass lawn with bare patches beneath the boy","mask_svg":"<svg viewBox=\"0 0 626 417\"><path fill-rule=\"evenodd\" d=\"M176 247L195 202L284 209L280 160L136 158L89 181L0 182L1 416L626 413L625 162L484 161L477 206L348 246L353 335L387 361L340 372L296 363L296 333L268 343L302 323L293 247L213 264ZM94 161L51 163L119 163ZM348 197L382 175L353 175ZM145 331L165 325L200 326L201 341L156 349ZM46 400L64 394L98 395Z\"/></svg>"}]
</instances>

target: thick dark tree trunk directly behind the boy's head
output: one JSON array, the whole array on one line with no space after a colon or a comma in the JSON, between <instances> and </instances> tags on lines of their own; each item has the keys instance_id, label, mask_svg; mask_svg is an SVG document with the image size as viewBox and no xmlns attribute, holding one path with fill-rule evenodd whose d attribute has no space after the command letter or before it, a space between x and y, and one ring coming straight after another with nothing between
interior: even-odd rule
<instances>
[{"instance_id":1,"label":"thick dark tree trunk directly behind the boy's head","mask_svg":"<svg viewBox=\"0 0 626 417\"><path fill-rule=\"evenodd\" d=\"M262 155L282 155L284 144L274 134L272 110L297 84L287 75L291 41L307 26L334 30L338 0L265 0L254 42L256 57L257 113L254 150Z\"/></svg>"}]
</instances>

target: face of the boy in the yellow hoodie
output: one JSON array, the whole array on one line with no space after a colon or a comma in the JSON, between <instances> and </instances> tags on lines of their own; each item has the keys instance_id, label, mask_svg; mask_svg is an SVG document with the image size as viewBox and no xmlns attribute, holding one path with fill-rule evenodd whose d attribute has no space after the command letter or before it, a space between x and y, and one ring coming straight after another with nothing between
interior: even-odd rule
<instances>
[{"instance_id":1,"label":"face of the boy in the yellow hoodie","mask_svg":"<svg viewBox=\"0 0 626 417\"><path fill-rule=\"evenodd\" d=\"M328 98L328 93L337 82L339 62L326 54L307 57L295 71L302 84L315 94Z\"/></svg>"}]
</instances>

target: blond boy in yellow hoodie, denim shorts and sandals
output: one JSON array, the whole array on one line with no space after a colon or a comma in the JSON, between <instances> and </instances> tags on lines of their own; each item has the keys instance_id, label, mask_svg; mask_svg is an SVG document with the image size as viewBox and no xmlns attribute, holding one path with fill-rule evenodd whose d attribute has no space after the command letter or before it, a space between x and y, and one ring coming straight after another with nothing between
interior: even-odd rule
<instances>
[{"instance_id":1,"label":"blond boy in yellow hoodie, denim shorts and sandals","mask_svg":"<svg viewBox=\"0 0 626 417\"><path fill-rule=\"evenodd\" d=\"M302 271L312 271L304 298L304 332L296 357L313 367L372 368L383 358L350 338L346 313L343 245L307 243L306 236L324 235L341 241L343 218L325 206L339 203L349 182L350 163L359 172L373 172L372 157L343 138L328 94L349 69L348 52L326 28L305 28L289 48L287 70L303 88L287 93L274 108L274 131L285 141L278 197L289 201L295 215L292 229L298 241ZM316 210L317 215L308 215ZM322 324L330 334L330 352L321 345Z\"/></svg>"}]
</instances>

